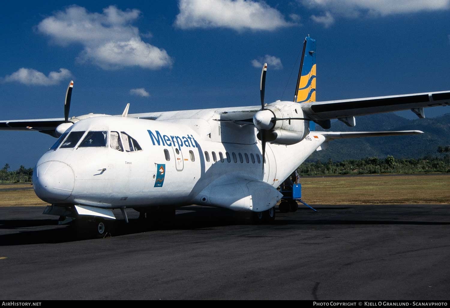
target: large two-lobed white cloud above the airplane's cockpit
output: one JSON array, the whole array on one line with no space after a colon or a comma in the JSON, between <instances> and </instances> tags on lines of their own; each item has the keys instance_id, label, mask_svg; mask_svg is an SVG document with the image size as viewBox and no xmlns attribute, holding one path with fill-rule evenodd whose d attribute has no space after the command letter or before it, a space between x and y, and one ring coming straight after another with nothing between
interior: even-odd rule
<instances>
[{"instance_id":1,"label":"large two-lobed white cloud above the airplane's cockpit","mask_svg":"<svg viewBox=\"0 0 450 308\"><path fill-rule=\"evenodd\" d=\"M131 25L139 15L137 9L109 6L100 14L73 5L45 18L36 28L55 44L81 44L79 59L104 69L170 67L173 61L166 50L142 41L139 29Z\"/></svg>"}]
</instances>

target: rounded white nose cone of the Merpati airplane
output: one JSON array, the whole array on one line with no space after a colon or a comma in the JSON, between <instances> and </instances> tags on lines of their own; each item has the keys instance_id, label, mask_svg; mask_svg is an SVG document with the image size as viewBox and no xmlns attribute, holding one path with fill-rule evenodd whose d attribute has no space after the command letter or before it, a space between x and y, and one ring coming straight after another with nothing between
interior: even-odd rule
<instances>
[{"instance_id":1,"label":"rounded white nose cone of the Merpati airplane","mask_svg":"<svg viewBox=\"0 0 450 308\"><path fill-rule=\"evenodd\" d=\"M67 199L73 190L75 175L72 168L59 161L47 161L36 166L33 187L36 195L49 203Z\"/></svg>"}]
</instances>

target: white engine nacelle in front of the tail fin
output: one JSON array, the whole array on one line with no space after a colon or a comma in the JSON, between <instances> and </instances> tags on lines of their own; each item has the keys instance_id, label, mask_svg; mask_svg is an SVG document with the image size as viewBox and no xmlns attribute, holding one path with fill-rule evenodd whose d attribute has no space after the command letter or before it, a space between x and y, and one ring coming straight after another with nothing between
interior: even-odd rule
<instances>
[{"instance_id":1,"label":"white engine nacelle in front of the tail fin","mask_svg":"<svg viewBox=\"0 0 450 308\"><path fill-rule=\"evenodd\" d=\"M303 114L302 108L298 103L294 102L275 102L264 107L270 110L273 118L306 118ZM279 120L269 124L266 118L269 112L266 110L259 111L261 113L261 127L266 130L266 141L280 145L293 145L302 141L309 134L309 121L306 120ZM254 117L254 122L256 121ZM259 128L257 126L257 128ZM258 133L257 138L261 140L261 135Z\"/></svg>"}]
</instances>

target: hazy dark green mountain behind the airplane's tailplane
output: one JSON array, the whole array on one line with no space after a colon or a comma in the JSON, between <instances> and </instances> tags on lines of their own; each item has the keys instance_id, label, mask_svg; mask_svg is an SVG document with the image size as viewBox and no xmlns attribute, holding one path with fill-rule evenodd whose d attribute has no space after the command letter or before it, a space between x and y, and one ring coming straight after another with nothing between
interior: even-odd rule
<instances>
[{"instance_id":1,"label":"hazy dark green mountain behind the airplane's tailplane","mask_svg":"<svg viewBox=\"0 0 450 308\"><path fill-rule=\"evenodd\" d=\"M450 145L450 113L438 118L408 120L392 113L374 114L356 118L356 127L341 121L332 122L331 129L321 131L423 131L422 135L341 139L329 142L328 148L316 151L307 161L322 162L332 159L362 159L392 155L396 159L421 158L437 155L439 145Z\"/></svg>"}]
</instances>

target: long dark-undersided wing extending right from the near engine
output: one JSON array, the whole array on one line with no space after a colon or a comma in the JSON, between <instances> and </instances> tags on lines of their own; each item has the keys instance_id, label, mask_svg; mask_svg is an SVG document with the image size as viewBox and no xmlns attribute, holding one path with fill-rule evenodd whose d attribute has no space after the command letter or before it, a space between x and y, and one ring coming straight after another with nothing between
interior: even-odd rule
<instances>
[{"instance_id":1,"label":"long dark-undersided wing extending right from the near engine","mask_svg":"<svg viewBox=\"0 0 450 308\"><path fill-rule=\"evenodd\" d=\"M450 105L450 91L378 96L353 100L330 100L302 103L301 105L309 118L320 121L372 113L447 106ZM416 113L416 111L414 112ZM417 110L417 112L420 112L420 110Z\"/></svg>"}]
</instances>

